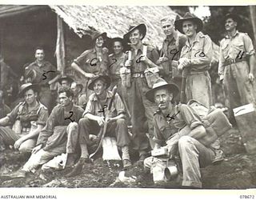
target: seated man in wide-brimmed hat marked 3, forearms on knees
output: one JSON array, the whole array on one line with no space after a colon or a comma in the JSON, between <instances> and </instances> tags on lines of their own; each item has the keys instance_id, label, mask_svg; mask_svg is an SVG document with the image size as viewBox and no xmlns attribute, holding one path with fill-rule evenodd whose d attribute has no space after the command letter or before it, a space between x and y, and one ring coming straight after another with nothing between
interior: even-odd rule
<instances>
[{"instance_id":1,"label":"seated man in wide-brimmed hat marked 3, forearms on knees","mask_svg":"<svg viewBox=\"0 0 256 200\"><path fill-rule=\"evenodd\" d=\"M80 174L85 162L89 162L89 153L87 147L91 145L89 134L98 134L99 130L107 123L106 135L117 138L117 146L122 148L123 167L131 166L129 143L130 136L126 124L126 110L118 94L114 96L108 90L110 86L109 76L96 76L88 85L89 90L94 90L94 94L89 97L84 118L79 120L79 142L81 147L81 157L74 167L74 170L67 176ZM107 112L106 106L109 106L111 99L113 104L110 106L110 112ZM105 109L105 110L104 110ZM100 139L100 138L98 138Z\"/></svg>"}]
</instances>

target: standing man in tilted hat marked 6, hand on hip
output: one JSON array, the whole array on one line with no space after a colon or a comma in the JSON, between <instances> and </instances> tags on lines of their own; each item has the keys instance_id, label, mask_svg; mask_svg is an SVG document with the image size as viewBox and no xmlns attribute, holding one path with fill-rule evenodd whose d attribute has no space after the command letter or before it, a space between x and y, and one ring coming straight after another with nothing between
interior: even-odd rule
<instances>
[{"instance_id":1,"label":"standing man in tilted hat marked 6, hand on hip","mask_svg":"<svg viewBox=\"0 0 256 200\"><path fill-rule=\"evenodd\" d=\"M105 32L94 34L92 38L94 48L84 51L71 64L74 70L87 79L83 85L86 89L90 78L94 78L98 74L108 74L109 57L106 48L103 48L106 39ZM90 94L92 94L92 91L86 90L87 98L89 98Z\"/></svg>"}]
</instances>

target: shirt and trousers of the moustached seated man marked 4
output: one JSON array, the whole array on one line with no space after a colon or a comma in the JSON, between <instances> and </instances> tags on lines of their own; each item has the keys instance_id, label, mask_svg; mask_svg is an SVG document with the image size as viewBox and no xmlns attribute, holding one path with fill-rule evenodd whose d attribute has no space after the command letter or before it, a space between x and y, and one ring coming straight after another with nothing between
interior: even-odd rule
<instances>
[{"instance_id":1,"label":"shirt and trousers of the moustached seated man marked 4","mask_svg":"<svg viewBox=\"0 0 256 200\"><path fill-rule=\"evenodd\" d=\"M177 138L178 152L182 161L182 186L202 187L200 167L210 165L215 158L214 147L204 146L200 140L187 134L198 126L204 126L199 115L185 104L174 105L169 116L158 110L154 114L154 142L166 146L172 137ZM151 168L156 158L146 158L144 165Z\"/></svg>"}]
</instances>

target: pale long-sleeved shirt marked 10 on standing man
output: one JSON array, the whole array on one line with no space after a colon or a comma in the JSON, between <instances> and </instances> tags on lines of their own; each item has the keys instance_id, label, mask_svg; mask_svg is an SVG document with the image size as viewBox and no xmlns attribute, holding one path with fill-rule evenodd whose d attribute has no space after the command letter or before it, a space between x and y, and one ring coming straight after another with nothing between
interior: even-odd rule
<instances>
[{"instance_id":1,"label":"pale long-sleeved shirt marked 10 on standing man","mask_svg":"<svg viewBox=\"0 0 256 200\"><path fill-rule=\"evenodd\" d=\"M213 46L210 37L198 32L194 42L190 44L187 40L182 48L181 58L190 59L190 71L205 71L210 69L213 57Z\"/></svg>"}]
</instances>

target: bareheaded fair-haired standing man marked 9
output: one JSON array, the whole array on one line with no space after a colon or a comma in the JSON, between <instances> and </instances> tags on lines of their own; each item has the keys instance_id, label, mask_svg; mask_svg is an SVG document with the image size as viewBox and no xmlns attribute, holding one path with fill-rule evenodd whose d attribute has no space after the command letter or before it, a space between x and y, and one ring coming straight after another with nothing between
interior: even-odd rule
<instances>
[{"instance_id":1,"label":"bareheaded fair-haired standing man marked 9","mask_svg":"<svg viewBox=\"0 0 256 200\"><path fill-rule=\"evenodd\" d=\"M182 47L186 43L186 36L179 34L174 30L174 19L169 16L161 19L162 30L166 34L166 39L162 42L162 50L158 64L162 64L163 74L162 77L170 82L173 81L179 86L182 86L182 76L178 74L178 59L182 51Z\"/></svg>"}]
</instances>

